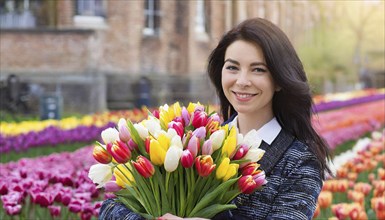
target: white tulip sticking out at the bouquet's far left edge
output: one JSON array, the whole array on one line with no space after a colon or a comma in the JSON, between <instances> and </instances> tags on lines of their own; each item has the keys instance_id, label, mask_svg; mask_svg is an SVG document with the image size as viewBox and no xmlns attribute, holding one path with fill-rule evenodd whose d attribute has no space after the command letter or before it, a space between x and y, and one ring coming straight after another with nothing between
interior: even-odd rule
<instances>
[{"instance_id":1,"label":"white tulip sticking out at the bouquet's far left edge","mask_svg":"<svg viewBox=\"0 0 385 220\"><path fill-rule=\"evenodd\" d=\"M103 187L112 178L112 166L108 164L94 164L88 171L88 178L98 186Z\"/></svg>"}]
</instances>

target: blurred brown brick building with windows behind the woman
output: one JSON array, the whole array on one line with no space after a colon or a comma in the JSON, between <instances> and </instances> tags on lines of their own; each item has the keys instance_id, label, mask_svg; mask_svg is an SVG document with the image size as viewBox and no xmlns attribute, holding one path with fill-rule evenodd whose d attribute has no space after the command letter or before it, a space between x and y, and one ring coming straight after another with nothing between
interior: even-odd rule
<instances>
[{"instance_id":1,"label":"blurred brown brick building with windows behind the woman","mask_svg":"<svg viewBox=\"0 0 385 220\"><path fill-rule=\"evenodd\" d=\"M206 60L226 30L245 18L264 17L295 44L317 21L308 1L0 4L0 79L16 74L38 95L60 93L65 112L82 113L133 107L140 76L150 81L152 105L215 102L205 75Z\"/></svg>"}]
</instances>

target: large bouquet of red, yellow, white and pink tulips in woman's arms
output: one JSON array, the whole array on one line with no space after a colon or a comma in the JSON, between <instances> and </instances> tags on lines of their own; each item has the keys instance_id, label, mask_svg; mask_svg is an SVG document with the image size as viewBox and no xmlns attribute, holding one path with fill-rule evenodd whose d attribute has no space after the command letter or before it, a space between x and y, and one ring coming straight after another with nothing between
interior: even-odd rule
<instances>
[{"instance_id":1,"label":"large bouquet of red, yellow, white and pink tulips in woman's arms","mask_svg":"<svg viewBox=\"0 0 385 220\"><path fill-rule=\"evenodd\" d=\"M89 177L148 219L211 218L266 183L257 135L220 126L219 115L200 103L166 104L139 123L120 119L101 136Z\"/></svg>"}]
</instances>

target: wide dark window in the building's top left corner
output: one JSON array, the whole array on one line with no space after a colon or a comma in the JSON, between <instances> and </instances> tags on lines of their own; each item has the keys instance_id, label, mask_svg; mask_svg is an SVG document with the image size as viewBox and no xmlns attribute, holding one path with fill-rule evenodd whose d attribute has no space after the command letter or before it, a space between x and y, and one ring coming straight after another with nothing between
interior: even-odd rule
<instances>
[{"instance_id":1,"label":"wide dark window in the building's top left corner","mask_svg":"<svg viewBox=\"0 0 385 220\"><path fill-rule=\"evenodd\" d=\"M37 26L35 11L38 0L0 0L0 26L2 28L32 28Z\"/></svg>"}]
</instances>

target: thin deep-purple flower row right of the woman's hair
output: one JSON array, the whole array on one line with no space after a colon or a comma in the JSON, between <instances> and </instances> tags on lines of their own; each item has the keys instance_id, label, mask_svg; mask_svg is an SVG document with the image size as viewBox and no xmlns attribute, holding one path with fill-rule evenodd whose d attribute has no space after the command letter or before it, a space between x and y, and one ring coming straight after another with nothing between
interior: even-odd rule
<instances>
[{"instance_id":1,"label":"thin deep-purple flower row right of the woman's hair","mask_svg":"<svg viewBox=\"0 0 385 220\"><path fill-rule=\"evenodd\" d=\"M315 112L322 112L322 111L328 111L332 109L343 108L343 107L348 107L348 106L357 105L357 104L363 104L363 103L372 102L372 101L378 101L381 99L385 99L385 94L371 94L368 96L357 97L357 98L344 100L344 101L321 102L319 104L314 105L313 110Z\"/></svg>"}]
</instances>

